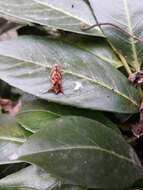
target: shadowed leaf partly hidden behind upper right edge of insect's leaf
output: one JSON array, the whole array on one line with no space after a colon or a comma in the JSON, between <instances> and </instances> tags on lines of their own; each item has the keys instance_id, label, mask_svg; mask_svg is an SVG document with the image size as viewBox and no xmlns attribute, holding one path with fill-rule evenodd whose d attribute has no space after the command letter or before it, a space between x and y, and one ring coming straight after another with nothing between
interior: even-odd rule
<instances>
[{"instance_id":1,"label":"shadowed leaf partly hidden behind upper right edge of insect's leaf","mask_svg":"<svg viewBox=\"0 0 143 190\"><path fill-rule=\"evenodd\" d=\"M123 66L122 62L117 58L115 52L111 50L107 41L102 38L94 38L92 36L81 36L70 34L63 37L67 43L81 48L97 58L103 60L105 63L112 64L114 67L119 68Z\"/></svg>"}]
</instances>

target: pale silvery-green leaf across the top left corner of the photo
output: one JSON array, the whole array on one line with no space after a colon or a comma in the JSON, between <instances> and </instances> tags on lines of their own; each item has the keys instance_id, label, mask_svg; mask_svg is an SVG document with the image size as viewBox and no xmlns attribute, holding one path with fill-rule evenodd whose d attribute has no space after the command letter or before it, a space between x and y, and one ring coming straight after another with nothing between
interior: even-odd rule
<instances>
[{"instance_id":1,"label":"pale silvery-green leaf across the top left corner of the photo","mask_svg":"<svg viewBox=\"0 0 143 190\"><path fill-rule=\"evenodd\" d=\"M18 22L35 23L77 33L84 33L80 29L82 22L88 25L94 23L93 15L85 1L74 1L74 7L71 2L63 3L64 7L68 8L67 11L51 4L45 6L34 0L0 0L0 14ZM99 30L89 31L89 34L103 36Z\"/></svg>"}]
</instances>

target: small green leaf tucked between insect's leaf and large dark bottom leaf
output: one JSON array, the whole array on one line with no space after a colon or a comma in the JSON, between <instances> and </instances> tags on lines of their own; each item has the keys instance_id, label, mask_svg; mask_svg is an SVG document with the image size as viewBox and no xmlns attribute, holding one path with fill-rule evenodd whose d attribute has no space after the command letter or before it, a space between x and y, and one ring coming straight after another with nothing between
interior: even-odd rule
<instances>
[{"instance_id":1,"label":"small green leaf tucked between insect's leaf and large dark bottom leaf","mask_svg":"<svg viewBox=\"0 0 143 190\"><path fill-rule=\"evenodd\" d=\"M55 120L64 115L88 117L120 133L118 127L99 111L64 106L48 101L37 100L36 98L33 99L33 101L23 102L22 110L17 114L16 121L24 129L35 133L37 130L47 127L51 120Z\"/></svg>"}]
</instances>

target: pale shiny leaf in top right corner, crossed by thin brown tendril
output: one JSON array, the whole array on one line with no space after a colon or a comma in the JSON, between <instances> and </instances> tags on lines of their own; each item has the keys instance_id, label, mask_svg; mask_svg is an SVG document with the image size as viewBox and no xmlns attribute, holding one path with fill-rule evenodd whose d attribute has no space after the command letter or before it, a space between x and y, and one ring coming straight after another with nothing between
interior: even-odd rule
<instances>
[{"instance_id":1,"label":"pale shiny leaf in top right corner, crossed by thin brown tendril","mask_svg":"<svg viewBox=\"0 0 143 190\"><path fill-rule=\"evenodd\" d=\"M90 0L99 23L112 23L129 32L132 36L143 37L141 0L107 0L106 3ZM104 11L106 10L106 11ZM133 37L110 25L101 26L114 46L124 54L129 64L138 69L143 59L143 46Z\"/></svg>"}]
</instances>

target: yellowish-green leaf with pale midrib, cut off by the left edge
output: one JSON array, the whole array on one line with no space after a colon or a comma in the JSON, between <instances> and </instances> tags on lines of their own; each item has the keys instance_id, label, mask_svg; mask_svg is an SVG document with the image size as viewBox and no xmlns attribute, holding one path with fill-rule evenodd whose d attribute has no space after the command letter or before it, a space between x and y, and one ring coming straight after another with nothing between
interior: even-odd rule
<instances>
[{"instance_id":1,"label":"yellowish-green leaf with pale midrib, cut off by the left edge","mask_svg":"<svg viewBox=\"0 0 143 190\"><path fill-rule=\"evenodd\" d=\"M4 164L17 148L26 141L29 133L18 126L14 118L0 115L0 164Z\"/></svg>"}]
</instances>

